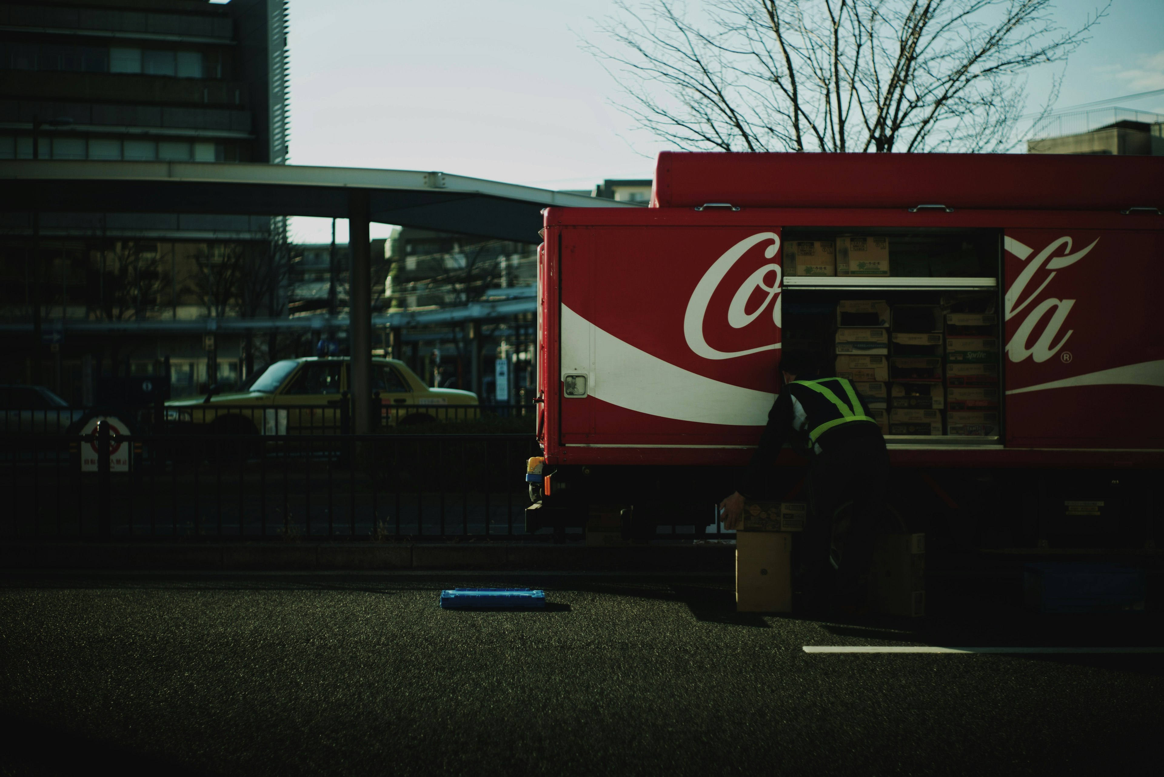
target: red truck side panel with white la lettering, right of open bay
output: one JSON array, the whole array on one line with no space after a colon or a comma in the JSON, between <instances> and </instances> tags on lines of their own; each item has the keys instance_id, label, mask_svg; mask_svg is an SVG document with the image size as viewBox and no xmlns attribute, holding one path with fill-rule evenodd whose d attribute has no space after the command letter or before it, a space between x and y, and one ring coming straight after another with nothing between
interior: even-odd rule
<instances>
[{"instance_id":1,"label":"red truck side panel with white la lettering, right of open bay","mask_svg":"<svg viewBox=\"0 0 1164 777\"><path fill-rule=\"evenodd\" d=\"M1164 448L1164 231L1007 229L1005 275L1007 445Z\"/></svg>"}]
</instances>

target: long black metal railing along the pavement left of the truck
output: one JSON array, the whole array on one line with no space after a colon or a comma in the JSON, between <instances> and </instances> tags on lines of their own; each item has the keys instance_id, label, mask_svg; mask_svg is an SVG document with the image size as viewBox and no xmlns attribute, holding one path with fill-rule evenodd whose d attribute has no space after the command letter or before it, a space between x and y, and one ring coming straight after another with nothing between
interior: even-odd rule
<instances>
[{"instance_id":1,"label":"long black metal railing along the pavement left of the truck","mask_svg":"<svg viewBox=\"0 0 1164 777\"><path fill-rule=\"evenodd\" d=\"M530 536L537 452L527 434L6 435L0 535Z\"/></svg>"}]
</instances>

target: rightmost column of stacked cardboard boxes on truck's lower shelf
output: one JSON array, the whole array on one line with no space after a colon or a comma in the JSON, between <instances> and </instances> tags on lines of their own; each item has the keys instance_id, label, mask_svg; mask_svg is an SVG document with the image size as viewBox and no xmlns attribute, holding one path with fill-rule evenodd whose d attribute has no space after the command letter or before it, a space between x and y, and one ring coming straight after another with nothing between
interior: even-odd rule
<instances>
[{"instance_id":1,"label":"rightmost column of stacked cardboard boxes on truck's lower shelf","mask_svg":"<svg viewBox=\"0 0 1164 777\"><path fill-rule=\"evenodd\" d=\"M949 434L999 434L999 316L946 315L946 402Z\"/></svg>"}]
</instances>

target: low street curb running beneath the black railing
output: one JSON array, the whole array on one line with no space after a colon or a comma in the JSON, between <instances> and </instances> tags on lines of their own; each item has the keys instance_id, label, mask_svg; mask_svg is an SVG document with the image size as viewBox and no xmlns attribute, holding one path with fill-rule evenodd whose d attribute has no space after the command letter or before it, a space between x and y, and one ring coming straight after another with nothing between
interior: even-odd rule
<instances>
[{"instance_id":1,"label":"low street curb running beneath the black railing","mask_svg":"<svg viewBox=\"0 0 1164 777\"><path fill-rule=\"evenodd\" d=\"M0 544L6 570L566 570L732 573L734 547L595 548L527 542L241 542Z\"/></svg>"}]
</instances>

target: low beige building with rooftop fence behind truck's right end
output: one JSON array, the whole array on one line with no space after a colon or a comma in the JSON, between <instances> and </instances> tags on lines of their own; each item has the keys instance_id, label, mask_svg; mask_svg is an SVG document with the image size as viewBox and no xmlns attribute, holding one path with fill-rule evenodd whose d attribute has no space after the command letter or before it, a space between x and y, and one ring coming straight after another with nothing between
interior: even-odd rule
<instances>
[{"instance_id":1,"label":"low beige building with rooftop fence behind truck's right end","mask_svg":"<svg viewBox=\"0 0 1164 777\"><path fill-rule=\"evenodd\" d=\"M1046 136L1027 141L1028 154L1164 156L1164 115L1143 111L1105 108L1056 116L1041 134Z\"/></svg>"}]
</instances>

